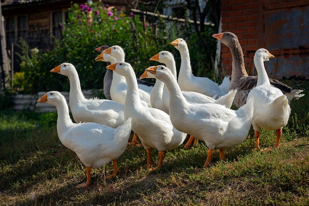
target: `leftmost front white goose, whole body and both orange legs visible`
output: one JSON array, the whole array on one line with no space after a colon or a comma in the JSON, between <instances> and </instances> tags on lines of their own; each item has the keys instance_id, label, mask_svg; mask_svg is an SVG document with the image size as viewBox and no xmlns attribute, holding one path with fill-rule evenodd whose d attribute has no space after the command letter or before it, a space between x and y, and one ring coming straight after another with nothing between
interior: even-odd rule
<instances>
[{"instance_id":1,"label":"leftmost front white goose, whole body and both orange legs visible","mask_svg":"<svg viewBox=\"0 0 309 206\"><path fill-rule=\"evenodd\" d=\"M117 175L117 158L123 154L127 146L131 133L131 119L117 128L95 123L75 124L70 119L66 99L60 92L49 91L37 102L48 103L57 108L58 137L86 166L87 181L77 185L77 188L90 185L91 167L100 167L113 161L114 173L108 175L108 178Z\"/></svg>"}]
</instances>

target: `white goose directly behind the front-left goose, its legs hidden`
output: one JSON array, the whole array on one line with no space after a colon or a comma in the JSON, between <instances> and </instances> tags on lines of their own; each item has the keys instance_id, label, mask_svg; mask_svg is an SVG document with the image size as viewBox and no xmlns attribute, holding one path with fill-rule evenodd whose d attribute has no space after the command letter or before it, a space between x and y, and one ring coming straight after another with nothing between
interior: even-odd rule
<instances>
[{"instance_id":1,"label":"white goose directly behind the front-left goose, its legs hidden","mask_svg":"<svg viewBox=\"0 0 309 206\"><path fill-rule=\"evenodd\" d=\"M107 99L86 99L84 97L78 73L73 64L62 63L50 72L69 78L69 104L75 122L104 124L113 128L124 123L123 104Z\"/></svg>"}]
</instances>

